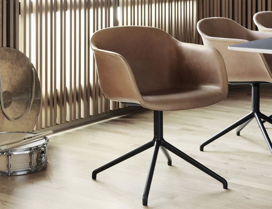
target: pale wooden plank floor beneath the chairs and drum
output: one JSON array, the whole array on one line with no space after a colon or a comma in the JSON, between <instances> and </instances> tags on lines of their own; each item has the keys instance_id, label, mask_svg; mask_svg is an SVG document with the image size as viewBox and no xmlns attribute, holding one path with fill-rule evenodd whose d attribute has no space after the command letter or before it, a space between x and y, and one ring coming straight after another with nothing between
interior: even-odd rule
<instances>
[{"instance_id":1,"label":"pale wooden plank floor beneath the chairs and drum","mask_svg":"<svg viewBox=\"0 0 272 209\"><path fill-rule=\"evenodd\" d=\"M272 87L261 88L261 111L272 112ZM231 89L216 105L164 112L164 138L228 181L229 189L174 154L160 152L148 198L142 193L149 149L97 175L97 167L153 137L149 110L85 125L49 137L49 165L34 174L2 176L0 208L229 209L272 208L272 155L255 120L236 136L224 135L199 151L201 142L251 110L251 89ZM266 123L272 137L272 125Z\"/></svg>"}]
</instances>

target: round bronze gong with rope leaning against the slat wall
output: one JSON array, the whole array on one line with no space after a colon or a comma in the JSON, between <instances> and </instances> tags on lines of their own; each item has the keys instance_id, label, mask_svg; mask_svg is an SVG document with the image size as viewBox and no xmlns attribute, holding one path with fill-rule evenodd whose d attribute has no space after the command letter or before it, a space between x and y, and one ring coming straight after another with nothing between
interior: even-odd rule
<instances>
[{"instance_id":1,"label":"round bronze gong with rope leaning against the slat wall","mask_svg":"<svg viewBox=\"0 0 272 209\"><path fill-rule=\"evenodd\" d=\"M0 111L0 132L33 131L40 112L41 87L38 74L36 70L32 69L35 69L33 64L22 52L13 48L0 47L3 100ZM32 104L31 97L33 97ZM3 108L7 116L2 110ZM19 120L12 121L8 117Z\"/></svg>"}]
</instances>

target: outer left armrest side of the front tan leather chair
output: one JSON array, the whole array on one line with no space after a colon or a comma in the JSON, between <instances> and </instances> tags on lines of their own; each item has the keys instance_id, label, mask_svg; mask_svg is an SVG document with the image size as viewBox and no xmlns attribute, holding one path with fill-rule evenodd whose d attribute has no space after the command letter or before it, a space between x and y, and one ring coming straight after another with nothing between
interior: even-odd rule
<instances>
[{"instance_id":1,"label":"outer left armrest side of the front tan leather chair","mask_svg":"<svg viewBox=\"0 0 272 209\"><path fill-rule=\"evenodd\" d=\"M140 103L144 100L139 92L134 74L126 59L118 53L100 50L92 46L96 63L99 63L99 84L106 98L113 101ZM112 82L107 82L112 80Z\"/></svg>"}]
</instances>

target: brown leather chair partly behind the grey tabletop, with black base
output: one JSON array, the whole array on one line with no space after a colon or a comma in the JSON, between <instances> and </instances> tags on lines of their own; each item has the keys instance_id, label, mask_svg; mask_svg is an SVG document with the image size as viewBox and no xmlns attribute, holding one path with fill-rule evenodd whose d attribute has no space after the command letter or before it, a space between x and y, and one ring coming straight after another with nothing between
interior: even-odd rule
<instances>
[{"instance_id":1,"label":"brown leather chair partly behind the grey tabletop, with black base","mask_svg":"<svg viewBox=\"0 0 272 209\"><path fill-rule=\"evenodd\" d=\"M240 131L253 118L256 118L272 152L271 140L261 120L272 123L272 119L259 110L260 85L272 82L272 55L228 50L228 45L269 38L272 36L271 33L248 30L231 19L221 17L205 18L198 21L197 30L202 37L204 45L215 47L223 56L229 84L250 84L252 86L251 112L206 142L203 142L200 145L200 150L203 151L204 146L238 126L236 135L239 136Z\"/></svg>"}]
</instances>

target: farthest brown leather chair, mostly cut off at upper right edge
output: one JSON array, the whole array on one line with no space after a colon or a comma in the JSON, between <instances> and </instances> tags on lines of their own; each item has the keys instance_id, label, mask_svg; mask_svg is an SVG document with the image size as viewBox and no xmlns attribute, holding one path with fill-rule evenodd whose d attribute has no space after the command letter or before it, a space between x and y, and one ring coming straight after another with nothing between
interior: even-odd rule
<instances>
[{"instance_id":1,"label":"farthest brown leather chair, mostly cut off at upper right edge","mask_svg":"<svg viewBox=\"0 0 272 209\"><path fill-rule=\"evenodd\" d=\"M257 12L253 16L253 21L259 31L272 33L272 11Z\"/></svg>"}]
</instances>

